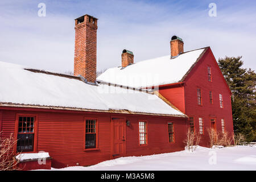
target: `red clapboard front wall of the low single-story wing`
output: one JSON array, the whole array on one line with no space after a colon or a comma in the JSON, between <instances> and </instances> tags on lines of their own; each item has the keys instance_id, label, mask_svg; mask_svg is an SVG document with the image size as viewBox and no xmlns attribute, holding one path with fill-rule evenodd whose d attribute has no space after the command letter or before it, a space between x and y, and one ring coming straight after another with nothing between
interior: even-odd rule
<instances>
[{"instance_id":1,"label":"red clapboard front wall of the low single-story wing","mask_svg":"<svg viewBox=\"0 0 256 182\"><path fill-rule=\"evenodd\" d=\"M13 108L14 109L14 108ZM52 167L90 166L113 159L111 140L111 118L123 118L130 121L126 126L126 156L141 156L160 154L163 152L180 151L184 149L187 118L159 117L150 115L89 113L68 111L53 111L42 109L2 111L3 137L8 137L15 131L16 113L38 115L38 151L49 152ZM0 112L1 113L1 112ZM98 121L98 150L84 150L84 119L97 118ZM147 121L148 144L139 146L138 121ZM168 143L167 123L174 123L175 143Z\"/></svg>"}]
</instances>

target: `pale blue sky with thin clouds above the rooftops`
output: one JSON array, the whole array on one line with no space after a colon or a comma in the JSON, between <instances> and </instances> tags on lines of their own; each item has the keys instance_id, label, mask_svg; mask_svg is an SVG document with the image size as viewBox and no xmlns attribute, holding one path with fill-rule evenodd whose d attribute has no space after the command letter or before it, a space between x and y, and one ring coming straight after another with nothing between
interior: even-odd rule
<instances>
[{"instance_id":1,"label":"pale blue sky with thin clouds above the rooftops","mask_svg":"<svg viewBox=\"0 0 256 182\"><path fill-rule=\"evenodd\" d=\"M46 17L38 4L46 4ZM217 16L210 17L209 3ZM121 65L124 48L138 62L170 54L170 39L184 51L210 46L216 59L243 56L256 69L255 1L13 1L0 2L0 61L58 72L73 71L74 19L98 18L97 69Z\"/></svg>"}]
</instances>

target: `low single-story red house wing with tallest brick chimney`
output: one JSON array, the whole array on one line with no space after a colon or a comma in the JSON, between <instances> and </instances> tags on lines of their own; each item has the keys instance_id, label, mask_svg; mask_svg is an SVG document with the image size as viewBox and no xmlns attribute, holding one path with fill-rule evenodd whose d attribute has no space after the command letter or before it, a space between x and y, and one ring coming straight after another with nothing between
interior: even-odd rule
<instances>
[{"instance_id":1,"label":"low single-story red house wing with tallest brick chimney","mask_svg":"<svg viewBox=\"0 0 256 182\"><path fill-rule=\"evenodd\" d=\"M1 138L14 134L16 154L48 152L54 168L183 150L187 115L146 89L97 84L97 19L75 30L75 76L0 62Z\"/></svg>"}]
</instances>

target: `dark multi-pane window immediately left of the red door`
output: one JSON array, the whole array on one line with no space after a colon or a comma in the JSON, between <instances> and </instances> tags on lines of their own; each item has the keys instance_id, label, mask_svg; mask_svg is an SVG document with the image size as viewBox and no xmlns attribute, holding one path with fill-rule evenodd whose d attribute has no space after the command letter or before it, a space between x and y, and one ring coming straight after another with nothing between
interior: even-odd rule
<instances>
[{"instance_id":1,"label":"dark multi-pane window immediately left of the red door","mask_svg":"<svg viewBox=\"0 0 256 182\"><path fill-rule=\"evenodd\" d=\"M85 123L85 148L96 148L96 120L86 119Z\"/></svg>"}]
</instances>

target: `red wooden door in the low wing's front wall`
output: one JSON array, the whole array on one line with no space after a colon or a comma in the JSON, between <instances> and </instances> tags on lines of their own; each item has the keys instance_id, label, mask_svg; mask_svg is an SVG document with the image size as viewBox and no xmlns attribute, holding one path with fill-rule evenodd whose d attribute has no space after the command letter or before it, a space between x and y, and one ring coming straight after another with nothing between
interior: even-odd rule
<instances>
[{"instance_id":1,"label":"red wooden door in the low wing's front wall","mask_svg":"<svg viewBox=\"0 0 256 182\"><path fill-rule=\"evenodd\" d=\"M126 130L125 119L113 118L113 133L112 133L112 156L119 158L126 154Z\"/></svg>"}]
</instances>

